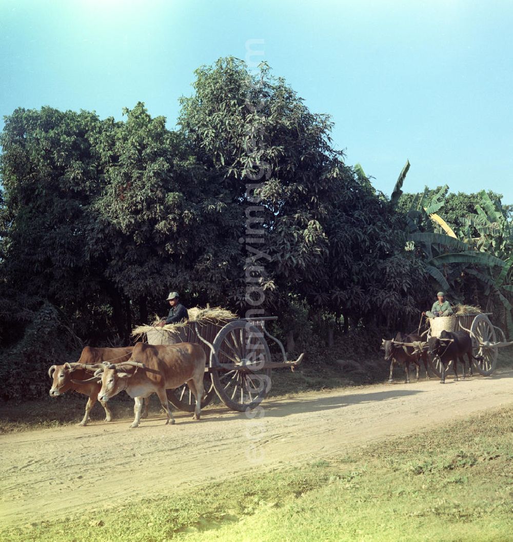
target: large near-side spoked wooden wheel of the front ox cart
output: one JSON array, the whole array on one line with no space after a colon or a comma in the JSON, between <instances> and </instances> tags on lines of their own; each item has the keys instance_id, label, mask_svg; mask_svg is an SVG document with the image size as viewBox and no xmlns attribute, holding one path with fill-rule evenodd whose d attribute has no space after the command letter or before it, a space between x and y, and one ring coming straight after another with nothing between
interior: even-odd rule
<instances>
[{"instance_id":1,"label":"large near-side spoked wooden wheel of the front ox cart","mask_svg":"<svg viewBox=\"0 0 513 542\"><path fill-rule=\"evenodd\" d=\"M214 350L219 363L268 363L271 353L261 330L248 322L235 320L217 333ZM210 366L215 366L210 354ZM229 409L245 412L261 403L271 389L271 369L215 370L211 373L214 389Z\"/></svg>"}]
</instances>

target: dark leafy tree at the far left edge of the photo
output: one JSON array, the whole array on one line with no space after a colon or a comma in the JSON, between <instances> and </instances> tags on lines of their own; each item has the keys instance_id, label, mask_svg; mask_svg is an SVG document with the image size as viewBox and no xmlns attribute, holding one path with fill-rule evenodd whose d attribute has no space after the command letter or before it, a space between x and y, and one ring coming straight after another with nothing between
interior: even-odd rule
<instances>
[{"instance_id":1,"label":"dark leafy tree at the far left edge of the photo","mask_svg":"<svg viewBox=\"0 0 513 542\"><path fill-rule=\"evenodd\" d=\"M98 305L98 272L89 265L88 207L98 190L97 115L16 109L0 136L4 318L23 321L47 299L68 314ZM85 322L81 320L81 323ZM87 325L86 325L87 327Z\"/></svg>"}]
</instances>

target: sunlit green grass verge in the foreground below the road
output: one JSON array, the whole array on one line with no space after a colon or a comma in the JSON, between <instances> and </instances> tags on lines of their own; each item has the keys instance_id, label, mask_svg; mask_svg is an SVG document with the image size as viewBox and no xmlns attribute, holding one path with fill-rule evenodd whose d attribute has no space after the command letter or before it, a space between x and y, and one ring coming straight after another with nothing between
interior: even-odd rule
<instances>
[{"instance_id":1,"label":"sunlit green grass verge in the foreground below the road","mask_svg":"<svg viewBox=\"0 0 513 542\"><path fill-rule=\"evenodd\" d=\"M255 467L0 539L505 542L513 530L512 434L513 408L486 412L300 468Z\"/></svg>"}]
</instances>

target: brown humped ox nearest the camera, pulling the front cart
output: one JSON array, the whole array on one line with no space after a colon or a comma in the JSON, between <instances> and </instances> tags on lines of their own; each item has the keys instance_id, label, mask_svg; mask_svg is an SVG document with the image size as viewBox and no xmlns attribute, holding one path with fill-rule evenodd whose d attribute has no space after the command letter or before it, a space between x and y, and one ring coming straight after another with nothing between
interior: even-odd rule
<instances>
[{"instance_id":1,"label":"brown humped ox nearest the camera, pulling the front cart","mask_svg":"<svg viewBox=\"0 0 513 542\"><path fill-rule=\"evenodd\" d=\"M206 356L200 345L178 343L174 345L149 345L137 343L129 362L120 365L104 364L98 367L92 380L101 378L99 401L107 402L120 391L135 399L134 420L130 427L140 422L143 398L157 393L168 415L166 424L175 423L166 396L166 390L178 388L187 382L196 397L193 420L200 419L203 376Z\"/></svg>"}]
</instances>

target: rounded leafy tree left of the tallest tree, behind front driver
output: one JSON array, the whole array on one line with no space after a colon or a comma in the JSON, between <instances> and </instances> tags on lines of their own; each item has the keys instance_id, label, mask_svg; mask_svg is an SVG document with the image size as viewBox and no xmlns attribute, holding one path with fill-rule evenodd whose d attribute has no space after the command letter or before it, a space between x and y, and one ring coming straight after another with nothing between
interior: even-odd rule
<instances>
[{"instance_id":1,"label":"rounded leafy tree left of the tallest tree, behind front driver","mask_svg":"<svg viewBox=\"0 0 513 542\"><path fill-rule=\"evenodd\" d=\"M169 289L219 302L240 251L227 190L164 117L151 118L142 103L124 113L92 207L91 242L105 245L106 277L142 321Z\"/></svg>"}]
</instances>

